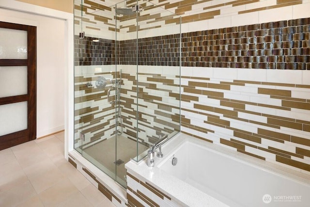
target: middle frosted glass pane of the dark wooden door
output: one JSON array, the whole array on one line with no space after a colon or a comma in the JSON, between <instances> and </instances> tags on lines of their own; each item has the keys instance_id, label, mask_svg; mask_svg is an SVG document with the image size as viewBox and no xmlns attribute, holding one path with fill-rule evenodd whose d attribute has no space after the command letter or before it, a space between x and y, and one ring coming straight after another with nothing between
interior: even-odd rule
<instances>
[{"instance_id":1,"label":"middle frosted glass pane of the dark wooden door","mask_svg":"<svg viewBox=\"0 0 310 207\"><path fill-rule=\"evenodd\" d=\"M27 94L27 66L0 67L0 97Z\"/></svg>"}]
</instances>

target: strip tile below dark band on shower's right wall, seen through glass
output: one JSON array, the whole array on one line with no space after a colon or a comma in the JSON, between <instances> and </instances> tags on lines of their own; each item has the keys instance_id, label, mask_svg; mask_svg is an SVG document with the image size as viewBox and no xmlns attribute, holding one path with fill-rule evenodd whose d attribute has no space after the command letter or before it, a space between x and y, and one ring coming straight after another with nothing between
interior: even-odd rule
<instances>
[{"instance_id":1,"label":"strip tile below dark band on shower's right wall, seen through glass","mask_svg":"<svg viewBox=\"0 0 310 207\"><path fill-rule=\"evenodd\" d=\"M124 134L154 143L159 135L180 131L179 67L120 65L123 68L121 106ZM167 72L169 71L169 72ZM137 87L138 86L138 87ZM138 92L138 96L137 96ZM138 110L138 113L137 113ZM137 131L138 117L138 131Z\"/></svg>"}]
</instances>

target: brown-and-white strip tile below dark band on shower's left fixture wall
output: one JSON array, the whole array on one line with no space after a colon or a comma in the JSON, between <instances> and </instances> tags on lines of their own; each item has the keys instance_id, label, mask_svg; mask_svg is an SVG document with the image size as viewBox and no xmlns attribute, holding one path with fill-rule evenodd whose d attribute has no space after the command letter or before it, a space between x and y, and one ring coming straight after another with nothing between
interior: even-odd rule
<instances>
[{"instance_id":1,"label":"brown-and-white strip tile below dark band on shower's left fixture wall","mask_svg":"<svg viewBox=\"0 0 310 207\"><path fill-rule=\"evenodd\" d=\"M82 145L80 131L85 134L84 148L115 135L116 105L107 101L112 84L99 89L95 87L95 81L98 77L115 79L116 74L110 73L111 68L102 68L101 65L75 66L75 148ZM101 72L96 72L98 69ZM87 82L93 86L87 87Z\"/></svg>"}]
</instances>

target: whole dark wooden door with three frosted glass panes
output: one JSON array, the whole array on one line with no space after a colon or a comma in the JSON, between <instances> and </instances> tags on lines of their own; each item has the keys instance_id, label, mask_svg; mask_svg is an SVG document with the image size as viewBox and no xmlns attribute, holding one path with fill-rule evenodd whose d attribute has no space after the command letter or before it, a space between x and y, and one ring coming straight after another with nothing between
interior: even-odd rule
<instances>
[{"instance_id":1,"label":"whole dark wooden door with three frosted glass panes","mask_svg":"<svg viewBox=\"0 0 310 207\"><path fill-rule=\"evenodd\" d=\"M0 22L0 150L36 139L36 27Z\"/></svg>"}]
</instances>

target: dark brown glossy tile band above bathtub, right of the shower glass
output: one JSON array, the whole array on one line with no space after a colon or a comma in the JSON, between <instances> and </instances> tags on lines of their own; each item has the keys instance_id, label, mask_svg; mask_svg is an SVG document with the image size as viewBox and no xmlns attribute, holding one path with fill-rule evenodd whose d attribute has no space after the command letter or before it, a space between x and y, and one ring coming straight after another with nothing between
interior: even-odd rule
<instances>
[{"instance_id":1,"label":"dark brown glossy tile band above bathtub, right of the shower glass","mask_svg":"<svg viewBox=\"0 0 310 207\"><path fill-rule=\"evenodd\" d=\"M310 18L182 33L182 66L310 70Z\"/></svg>"}]
</instances>

